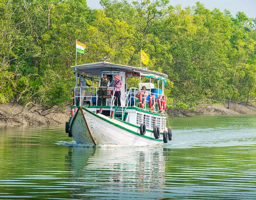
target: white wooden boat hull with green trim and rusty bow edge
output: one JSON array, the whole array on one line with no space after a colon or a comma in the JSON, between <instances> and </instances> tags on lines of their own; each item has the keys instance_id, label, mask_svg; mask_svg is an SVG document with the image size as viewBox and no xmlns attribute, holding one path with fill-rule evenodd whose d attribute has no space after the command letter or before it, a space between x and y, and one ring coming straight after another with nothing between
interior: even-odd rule
<instances>
[{"instance_id":1,"label":"white wooden boat hull with green trim and rusty bow edge","mask_svg":"<svg viewBox=\"0 0 256 200\"><path fill-rule=\"evenodd\" d=\"M163 144L163 134L154 138L153 131L147 129L140 134L140 127L128 122L95 114L85 107L80 107L69 121L69 132L76 143L88 146L154 146Z\"/></svg>"}]
</instances>

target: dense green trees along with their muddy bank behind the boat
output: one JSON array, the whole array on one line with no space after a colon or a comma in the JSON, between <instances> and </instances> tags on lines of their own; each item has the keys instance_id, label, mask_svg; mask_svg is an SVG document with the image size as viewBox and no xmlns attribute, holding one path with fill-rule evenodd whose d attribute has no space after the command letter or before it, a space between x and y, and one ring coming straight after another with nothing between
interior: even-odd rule
<instances>
[{"instance_id":1,"label":"dense green trees along with their muddy bank behind the boat","mask_svg":"<svg viewBox=\"0 0 256 200\"><path fill-rule=\"evenodd\" d=\"M77 64L107 56L139 67L143 49L144 67L168 75L170 117L255 114L256 19L200 2L185 9L168 3L101 0L103 9L90 9L86 0L0 3L0 123L67 121L76 39L86 45ZM92 85L90 77L87 82Z\"/></svg>"}]
</instances>

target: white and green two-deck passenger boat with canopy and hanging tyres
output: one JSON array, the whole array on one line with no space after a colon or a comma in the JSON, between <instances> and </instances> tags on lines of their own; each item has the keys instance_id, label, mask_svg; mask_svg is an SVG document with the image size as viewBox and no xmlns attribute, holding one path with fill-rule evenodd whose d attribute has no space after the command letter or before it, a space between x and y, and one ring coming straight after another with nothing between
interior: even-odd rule
<instances>
[{"instance_id":1,"label":"white and green two-deck passenger boat with canopy and hanging tyres","mask_svg":"<svg viewBox=\"0 0 256 200\"><path fill-rule=\"evenodd\" d=\"M76 143L86 146L154 146L172 139L171 127L166 127L166 74L106 61L72 66L71 69L76 73L76 86L66 133L74 137ZM87 80L92 81L92 85L86 87L84 96L81 96L81 87L77 86L80 73L86 73ZM112 80L119 76L122 81L121 106L114 103L116 87L96 86L95 82L104 74ZM135 78L134 87L128 88L126 82L129 82L129 78ZM141 80L148 81L143 83ZM141 89L143 86L146 91ZM98 95L100 88L105 88L107 94ZM106 105L99 105L99 98L105 98Z\"/></svg>"}]
</instances>

